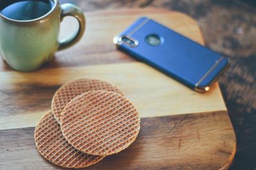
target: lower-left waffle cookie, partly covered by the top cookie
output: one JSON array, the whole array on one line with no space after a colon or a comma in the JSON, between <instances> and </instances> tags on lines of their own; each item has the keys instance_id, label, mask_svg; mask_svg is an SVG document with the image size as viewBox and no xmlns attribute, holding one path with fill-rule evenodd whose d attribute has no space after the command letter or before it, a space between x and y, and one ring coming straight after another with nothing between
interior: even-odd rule
<instances>
[{"instance_id":1,"label":"lower-left waffle cookie, partly covered by the top cookie","mask_svg":"<svg viewBox=\"0 0 256 170\"><path fill-rule=\"evenodd\" d=\"M103 158L83 153L68 144L52 112L45 114L36 125L35 143L37 150L44 158L61 167L88 167Z\"/></svg>"}]
</instances>

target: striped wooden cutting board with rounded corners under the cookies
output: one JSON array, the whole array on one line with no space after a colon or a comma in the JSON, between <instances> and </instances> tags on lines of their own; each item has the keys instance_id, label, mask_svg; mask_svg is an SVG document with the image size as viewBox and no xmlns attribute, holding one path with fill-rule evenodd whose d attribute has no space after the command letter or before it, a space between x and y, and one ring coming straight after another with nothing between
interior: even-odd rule
<instances>
[{"instance_id":1,"label":"striped wooden cutting board with rounded corners under the cookies","mask_svg":"<svg viewBox=\"0 0 256 170\"><path fill-rule=\"evenodd\" d=\"M227 169L236 136L218 84L197 93L119 52L112 38L148 16L204 44L195 20L156 9L87 13L83 40L37 72L12 71L0 62L0 169L60 169L35 148L33 132L62 84L82 77L120 87L141 116L141 131L127 150L88 169ZM61 38L76 27L65 20Z\"/></svg>"}]
</instances>

